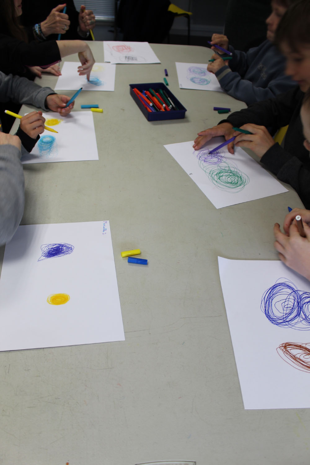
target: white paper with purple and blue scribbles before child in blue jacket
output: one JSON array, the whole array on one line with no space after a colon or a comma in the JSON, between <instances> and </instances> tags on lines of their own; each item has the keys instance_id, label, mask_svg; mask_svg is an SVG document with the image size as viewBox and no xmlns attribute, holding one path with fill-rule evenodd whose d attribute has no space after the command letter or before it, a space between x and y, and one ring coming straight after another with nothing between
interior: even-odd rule
<instances>
[{"instance_id":1,"label":"white paper with purple and blue scribbles before child in blue jacket","mask_svg":"<svg viewBox=\"0 0 310 465\"><path fill-rule=\"evenodd\" d=\"M207 71L205 63L177 63L178 85L181 89L215 90L224 92L217 77Z\"/></svg>"}]
</instances>

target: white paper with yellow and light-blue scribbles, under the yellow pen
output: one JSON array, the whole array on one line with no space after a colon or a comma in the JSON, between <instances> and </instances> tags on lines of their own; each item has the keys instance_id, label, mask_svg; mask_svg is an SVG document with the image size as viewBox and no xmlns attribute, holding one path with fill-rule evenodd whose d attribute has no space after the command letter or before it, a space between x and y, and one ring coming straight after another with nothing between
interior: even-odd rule
<instances>
[{"instance_id":1,"label":"white paper with yellow and light-blue scribbles, under the yellow pen","mask_svg":"<svg viewBox=\"0 0 310 465\"><path fill-rule=\"evenodd\" d=\"M73 111L67 116L50 112L43 113L43 116L45 126L58 133L45 130L32 152L22 157L22 163L98 160L92 112Z\"/></svg>"}]
</instances>

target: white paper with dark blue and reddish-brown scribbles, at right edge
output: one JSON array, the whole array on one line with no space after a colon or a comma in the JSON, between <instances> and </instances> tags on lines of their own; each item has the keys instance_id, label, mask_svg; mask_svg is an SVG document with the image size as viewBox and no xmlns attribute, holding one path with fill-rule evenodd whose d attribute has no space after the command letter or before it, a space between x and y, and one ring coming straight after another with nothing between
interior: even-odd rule
<instances>
[{"instance_id":1,"label":"white paper with dark blue and reddish-brown scribbles, at right edge","mask_svg":"<svg viewBox=\"0 0 310 465\"><path fill-rule=\"evenodd\" d=\"M310 320L298 320L297 305L290 318L282 307L293 292L293 310L303 291L309 316L309 281L280 261L218 257L218 266L244 408L310 407Z\"/></svg>"}]
</instances>

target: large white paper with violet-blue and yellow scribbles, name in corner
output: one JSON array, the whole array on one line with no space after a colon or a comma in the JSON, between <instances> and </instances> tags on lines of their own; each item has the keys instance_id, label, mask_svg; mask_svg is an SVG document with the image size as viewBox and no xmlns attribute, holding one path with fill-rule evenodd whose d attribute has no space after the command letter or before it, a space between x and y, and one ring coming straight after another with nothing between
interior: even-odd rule
<instances>
[{"instance_id":1,"label":"large white paper with violet-blue and yellow scribbles, name in corner","mask_svg":"<svg viewBox=\"0 0 310 465\"><path fill-rule=\"evenodd\" d=\"M19 226L0 301L1 351L124 340L109 221Z\"/></svg>"}]
</instances>

